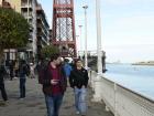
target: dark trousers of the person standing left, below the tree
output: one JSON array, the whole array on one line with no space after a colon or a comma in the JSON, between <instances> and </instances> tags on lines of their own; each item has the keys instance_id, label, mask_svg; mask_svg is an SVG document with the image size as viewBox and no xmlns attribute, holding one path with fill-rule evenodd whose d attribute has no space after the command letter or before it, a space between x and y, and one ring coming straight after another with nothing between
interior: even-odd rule
<instances>
[{"instance_id":1,"label":"dark trousers of the person standing left, below the tree","mask_svg":"<svg viewBox=\"0 0 154 116\"><path fill-rule=\"evenodd\" d=\"M21 77L20 78L20 98L24 98L25 97L25 77Z\"/></svg>"}]
</instances>

